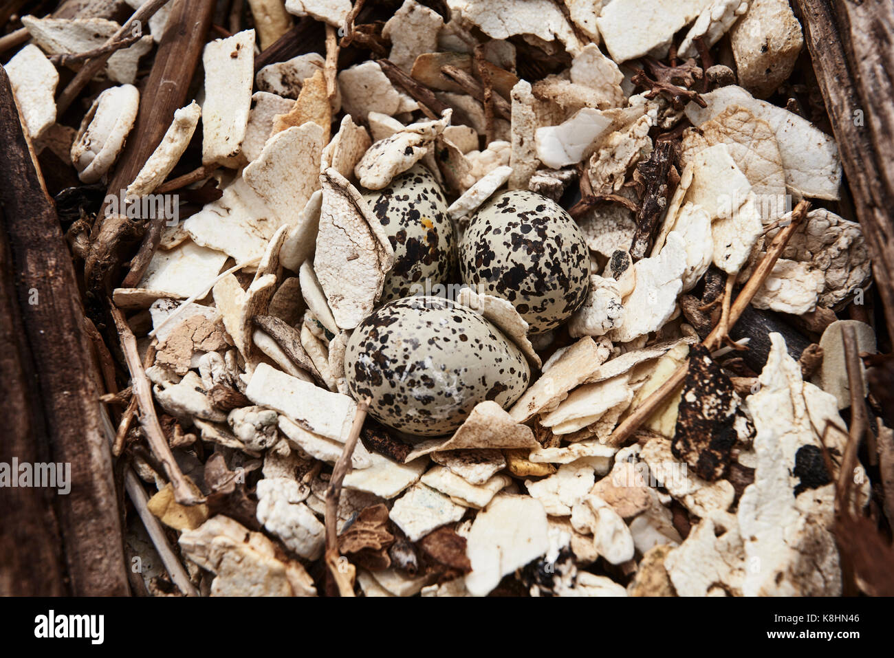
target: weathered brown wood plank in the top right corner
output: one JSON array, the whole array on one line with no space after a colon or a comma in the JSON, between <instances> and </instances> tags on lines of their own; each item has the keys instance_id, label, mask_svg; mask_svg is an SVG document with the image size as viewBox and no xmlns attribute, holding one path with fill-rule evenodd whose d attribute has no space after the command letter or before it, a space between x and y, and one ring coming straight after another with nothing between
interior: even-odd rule
<instances>
[{"instance_id":1,"label":"weathered brown wood plank in the top right corner","mask_svg":"<svg viewBox=\"0 0 894 658\"><path fill-rule=\"evenodd\" d=\"M797 5L894 334L894 3Z\"/></svg>"}]
</instances>

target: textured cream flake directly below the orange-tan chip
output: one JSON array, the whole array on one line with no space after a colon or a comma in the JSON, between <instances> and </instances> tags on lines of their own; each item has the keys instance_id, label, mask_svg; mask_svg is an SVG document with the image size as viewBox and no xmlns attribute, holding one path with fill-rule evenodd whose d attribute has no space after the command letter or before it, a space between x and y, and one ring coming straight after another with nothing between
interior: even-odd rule
<instances>
[{"instance_id":1,"label":"textured cream flake directly below the orange-tan chip","mask_svg":"<svg viewBox=\"0 0 894 658\"><path fill-rule=\"evenodd\" d=\"M242 170L242 178L280 224L298 224L311 195L319 190L323 129L314 122L277 132L260 155Z\"/></svg>"}]
</instances>

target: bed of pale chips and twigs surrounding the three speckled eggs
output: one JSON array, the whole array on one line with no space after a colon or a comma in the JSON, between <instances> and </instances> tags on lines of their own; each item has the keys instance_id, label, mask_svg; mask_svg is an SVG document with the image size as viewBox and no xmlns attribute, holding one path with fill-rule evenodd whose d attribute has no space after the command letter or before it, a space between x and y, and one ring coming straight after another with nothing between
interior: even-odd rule
<instances>
[{"instance_id":1,"label":"bed of pale chips and twigs surrounding the three speckled eggs","mask_svg":"<svg viewBox=\"0 0 894 658\"><path fill-rule=\"evenodd\" d=\"M71 250L123 591L894 594L889 293L798 7L30 4L4 130ZM586 242L548 331L451 299L530 375L434 437L350 367L426 257L367 203L414 167L460 250L507 190Z\"/></svg>"}]
</instances>

